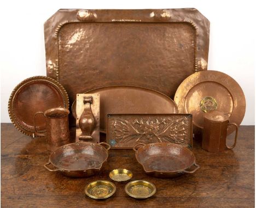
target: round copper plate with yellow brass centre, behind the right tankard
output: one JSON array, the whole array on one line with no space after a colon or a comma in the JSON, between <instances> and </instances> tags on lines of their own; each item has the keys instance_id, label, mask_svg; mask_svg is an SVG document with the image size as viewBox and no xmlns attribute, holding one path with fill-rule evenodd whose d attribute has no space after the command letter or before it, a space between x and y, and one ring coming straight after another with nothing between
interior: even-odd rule
<instances>
[{"instance_id":1,"label":"round copper plate with yellow brass centre, behind the right tankard","mask_svg":"<svg viewBox=\"0 0 256 208\"><path fill-rule=\"evenodd\" d=\"M240 125L245 116L246 100L240 85L219 71L200 71L179 85L174 101L179 113L193 114L194 132L203 129L205 113L217 109L229 115L229 121ZM235 127L228 127L228 134Z\"/></svg>"}]
</instances>

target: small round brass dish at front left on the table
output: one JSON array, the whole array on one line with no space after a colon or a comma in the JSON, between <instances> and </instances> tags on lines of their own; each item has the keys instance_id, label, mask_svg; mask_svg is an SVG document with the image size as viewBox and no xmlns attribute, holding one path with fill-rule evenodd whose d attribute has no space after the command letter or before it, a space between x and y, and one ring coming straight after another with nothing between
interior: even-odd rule
<instances>
[{"instance_id":1,"label":"small round brass dish at front left on the table","mask_svg":"<svg viewBox=\"0 0 256 208\"><path fill-rule=\"evenodd\" d=\"M94 181L85 187L85 194L92 199L107 199L115 193L115 185L110 181Z\"/></svg>"}]
</instances>

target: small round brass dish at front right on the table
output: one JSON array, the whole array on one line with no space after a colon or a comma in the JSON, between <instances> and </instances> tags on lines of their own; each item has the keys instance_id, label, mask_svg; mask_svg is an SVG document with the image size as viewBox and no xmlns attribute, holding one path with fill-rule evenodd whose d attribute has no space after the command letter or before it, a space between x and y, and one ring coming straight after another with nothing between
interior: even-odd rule
<instances>
[{"instance_id":1,"label":"small round brass dish at front right on the table","mask_svg":"<svg viewBox=\"0 0 256 208\"><path fill-rule=\"evenodd\" d=\"M125 192L136 199L146 199L155 194L156 188L153 183L143 180L131 181L126 184Z\"/></svg>"}]
</instances>

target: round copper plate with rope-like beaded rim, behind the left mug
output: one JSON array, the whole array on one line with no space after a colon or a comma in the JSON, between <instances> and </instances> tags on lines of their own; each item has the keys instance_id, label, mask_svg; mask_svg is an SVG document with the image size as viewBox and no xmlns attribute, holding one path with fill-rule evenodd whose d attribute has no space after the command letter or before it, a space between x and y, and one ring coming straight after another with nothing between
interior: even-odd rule
<instances>
[{"instance_id":1,"label":"round copper plate with rope-like beaded rim, behind the left mug","mask_svg":"<svg viewBox=\"0 0 256 208\"><path fill-rule=\"evenodd\" d=\"M10 95L8 111L16 129L28 135L34 135L34 114L49 108L69 107L68 95L55 79L34 76L19 83ZM38 132L45 131L45 118L37 118Z\"/></svg>"}]
</instances>

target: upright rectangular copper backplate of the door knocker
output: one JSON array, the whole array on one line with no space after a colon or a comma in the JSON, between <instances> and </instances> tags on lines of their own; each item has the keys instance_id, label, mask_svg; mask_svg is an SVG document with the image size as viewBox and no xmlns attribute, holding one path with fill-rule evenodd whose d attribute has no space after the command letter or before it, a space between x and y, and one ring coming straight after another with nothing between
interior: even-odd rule
<instances>
[{"instance_id":1,"label":"upright rectangular copper backplate of the door knocker","mask_svg":"<svg viewBox=\"0 0 256 208\"><path fill-rule=\"evenodd\" d=\"M84 104L84 97L88 99L92 98L92 103ZM89 107L86 108L85 107ZM77 94L77 120L76 120L76 130L75 130L75 142L100 142L100 94ZM85 113L85 115L83 114ZM81 118L82 117L82 118ZM88 120L93 118L93 124L89 124ZM85 124L79 124L80 119L84 119ZM81 125L81 126L80 126ZM86 126L85 126L86 125ZM90 126L92 125L92 126ZM82 129L80 127L86 128L86 134L88 134L88 128L91 127L91 138L80 138L82 136ZM85 135L85 133L83 133Z\"/></svg>"}]
</instances>

